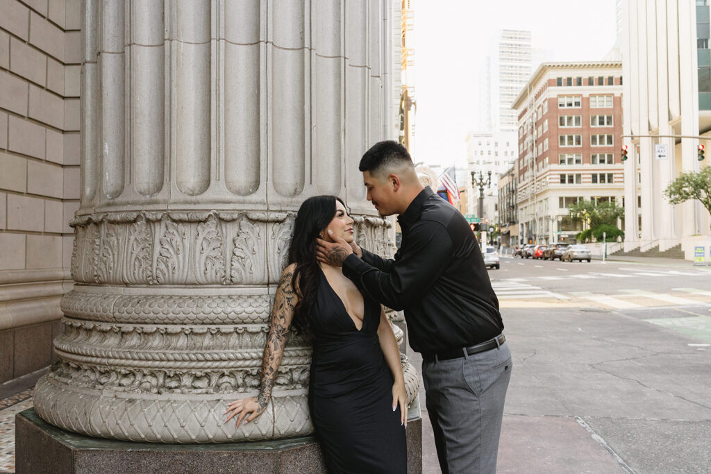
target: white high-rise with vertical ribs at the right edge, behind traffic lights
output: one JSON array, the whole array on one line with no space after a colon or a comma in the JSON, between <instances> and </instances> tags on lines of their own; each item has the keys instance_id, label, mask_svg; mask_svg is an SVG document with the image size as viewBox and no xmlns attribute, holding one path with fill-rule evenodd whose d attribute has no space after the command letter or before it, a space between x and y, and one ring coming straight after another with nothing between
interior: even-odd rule
<instances>
[{"instance_id":1,"label":"white high-rise with vertical ribs at the right edge, behind traffic lights","mask_svg":"<svg viewBox=\"0 0 711 474\"><path fill-rule=\"evenodd\" d=\"M697 160L697 146L711 145L709 1L629 0L621 7L624 247L679 249L693 259L711 234L709 213L697 201L670 205L663 192L680 173L709 166L709 158Z\"/></svg>"}]
</instances>

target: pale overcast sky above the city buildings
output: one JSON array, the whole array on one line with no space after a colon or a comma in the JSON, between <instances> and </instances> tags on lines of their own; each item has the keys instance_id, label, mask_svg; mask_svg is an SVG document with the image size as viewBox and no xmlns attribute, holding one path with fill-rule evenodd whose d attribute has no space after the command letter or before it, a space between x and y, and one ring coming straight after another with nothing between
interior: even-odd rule
<instances>
[{"instance_id":1,"label":"pale overcast sky above the city buildings","mask_svg":"<svg viewBox=\"0 0 711 474\"><path fill-rule=\"evenodd\" d=\"M615 0L417 0L416 161L466 165L471 91L501 29L531 31L547 61L601 60L616 39Z\"/></svg>"}]
</instances>

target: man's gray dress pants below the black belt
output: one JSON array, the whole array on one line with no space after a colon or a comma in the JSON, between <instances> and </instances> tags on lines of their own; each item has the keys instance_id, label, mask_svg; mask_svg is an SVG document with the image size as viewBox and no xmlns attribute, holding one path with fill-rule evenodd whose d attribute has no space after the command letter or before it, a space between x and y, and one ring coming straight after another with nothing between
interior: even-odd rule
<instances>
[{"instance_id":1,"label":"man's gray dress pants below the black belt","mask_svg":"<svg viewBox=\"0 0 711 474\"><path fill-rule=\"evenodd\" d=\"M427 411L444 474L496 473L511 352L500 347L422 362Z\"/></svg>"}]
</instances>

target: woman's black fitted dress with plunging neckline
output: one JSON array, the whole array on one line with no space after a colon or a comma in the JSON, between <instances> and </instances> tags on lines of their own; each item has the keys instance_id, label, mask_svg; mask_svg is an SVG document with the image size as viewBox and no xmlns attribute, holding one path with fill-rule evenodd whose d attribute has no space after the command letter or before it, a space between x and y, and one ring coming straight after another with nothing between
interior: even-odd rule
<instances>
[{"instance_id":1,"label":"woman's black fitted dress with plunging neckline","mask_svg":"<svg viewBox=\"0 0 711 474\"><path fill-rule=\"evenodd\" d=\"M329 473L405 473L405 429L392 411L392 373L378 342L380 305L365 298L358 330L320 273L309 406Z\"/></svg>"}]
</instances>

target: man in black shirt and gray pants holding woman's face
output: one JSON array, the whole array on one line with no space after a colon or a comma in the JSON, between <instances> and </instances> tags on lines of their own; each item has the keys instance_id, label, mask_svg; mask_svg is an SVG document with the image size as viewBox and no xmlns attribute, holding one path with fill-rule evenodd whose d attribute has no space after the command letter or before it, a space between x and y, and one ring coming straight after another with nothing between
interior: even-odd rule
<instances>
[{"instance_id":1,"label":"man in black shirt and gray pants holding woman's face","mask_svg":"<svg viewBox=\"0 0 711 474\"><path fill-rule=\"evenodd\" d=\"M442 473L495 473L511 356L498 299L464 217L417 179L405 146L380 141L360 160L368 200L398 214L402 245L382 259L356 244L319 241L364 295L404 310L422 353L427 411Z\"/></svg>"}]
</instances>

